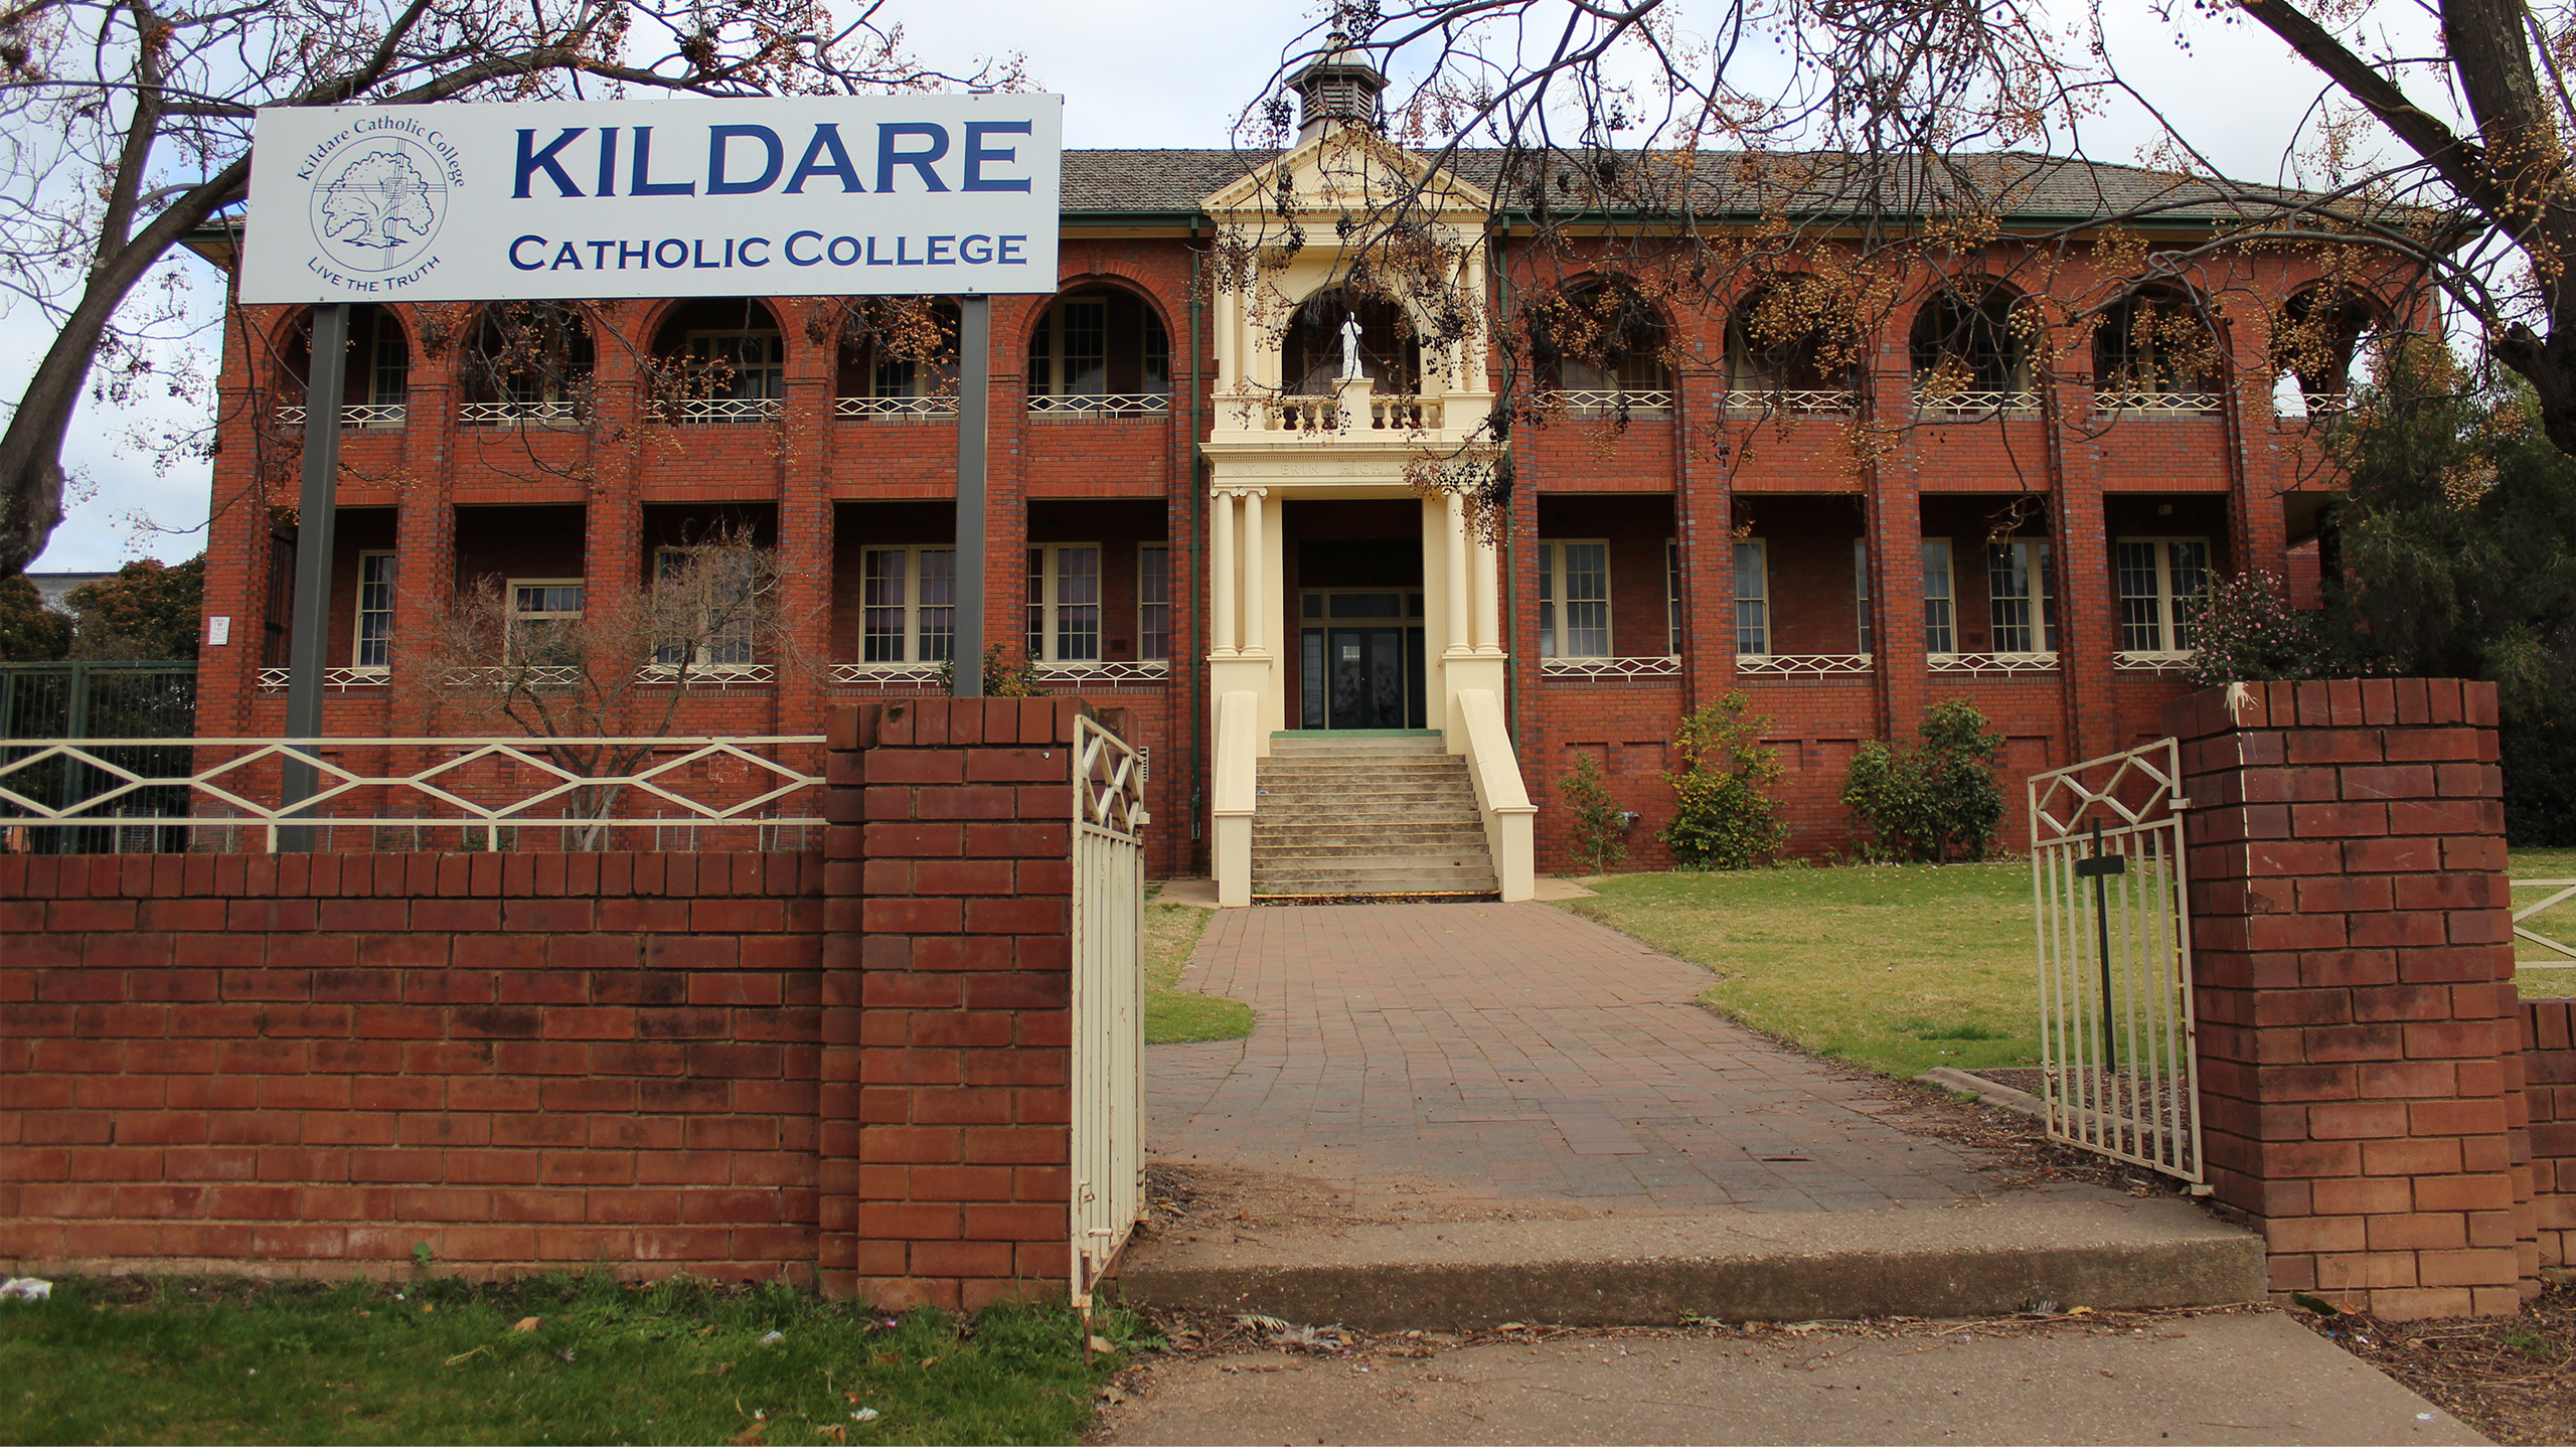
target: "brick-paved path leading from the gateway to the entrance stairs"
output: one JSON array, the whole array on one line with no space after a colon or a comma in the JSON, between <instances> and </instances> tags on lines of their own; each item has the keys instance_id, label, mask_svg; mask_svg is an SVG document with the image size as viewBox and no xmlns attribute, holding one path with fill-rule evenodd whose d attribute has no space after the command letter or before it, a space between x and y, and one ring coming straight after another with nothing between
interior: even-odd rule
<instances>
[{"instance_id":1,"label":"brick-paved path leading from the gateway to the entrance stairs","mask_svg":"<svg viewBox=\"0 0 2576 1447\"><path fill-rule=\"evenodd\" d=\"M1862 1089L1692 1004L1708 971L1546 904L1226 909L1185 989L1249 1040L1146 1050L1154 1159L1352 1205L1868 1210L1991 1192Z\"/></svg>"}]
</instances>

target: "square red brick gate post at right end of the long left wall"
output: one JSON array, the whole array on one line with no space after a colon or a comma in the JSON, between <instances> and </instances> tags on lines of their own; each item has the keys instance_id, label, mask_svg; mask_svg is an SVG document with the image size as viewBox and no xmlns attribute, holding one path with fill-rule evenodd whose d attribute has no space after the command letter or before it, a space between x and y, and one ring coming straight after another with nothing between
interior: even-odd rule
<instances>
[{"instance_id":1,"label":"square red brick gate post at right end of the long left wall","mask_svg":"<svg viewBox=\"0 0 2576 1447\"><path fill-rule=\"evenodd\" d=\"M914 698L832 716L827 1295L1066 1290L1079 713Z\"/></svg>"}]
</instances>

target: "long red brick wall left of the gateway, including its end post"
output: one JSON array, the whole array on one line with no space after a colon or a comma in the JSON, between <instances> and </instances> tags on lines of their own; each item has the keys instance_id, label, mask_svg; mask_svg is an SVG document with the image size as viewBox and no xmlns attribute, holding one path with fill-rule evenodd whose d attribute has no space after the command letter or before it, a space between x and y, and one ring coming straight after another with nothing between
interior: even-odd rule
<instances>
[{"instance_id":1,"label":"long red brick wall left of the gateway, including its end post","mask_svg":"<svg viewBox=\"0 0 2576 1447\"><path fill-rule=\"evenodd\" d=\"M0 857L0 1259L1061 1290L1082 708L845 711L811 855Z\"/></svg>"}]
</instances>

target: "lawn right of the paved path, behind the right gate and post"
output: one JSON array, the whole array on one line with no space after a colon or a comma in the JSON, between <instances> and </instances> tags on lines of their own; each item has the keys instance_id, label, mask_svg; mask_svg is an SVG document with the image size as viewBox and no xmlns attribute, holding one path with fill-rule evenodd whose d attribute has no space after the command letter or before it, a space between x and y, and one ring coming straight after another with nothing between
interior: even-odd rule
<instances>
[{"instance_id":1,"label":"lawn right of the paved path, behind the right gate and post","mask_svg":"<svg viewBox=\"0 0 2576 1447\"><path fill-rule=\"evenodd\" d=\"M2576 881L2576 850L2514 850L2514 878ZM1700 1004L1891 1076L2038 1063L2030 865L1855 865L1638 873L1566 909L1708 966ZM2524 904L2537 896L2522 896ZM2576 945L2576 899L2532 919ZM2522 945L2522 991L2576 994L2576 971Z\"/></svg>"}]
</instances>

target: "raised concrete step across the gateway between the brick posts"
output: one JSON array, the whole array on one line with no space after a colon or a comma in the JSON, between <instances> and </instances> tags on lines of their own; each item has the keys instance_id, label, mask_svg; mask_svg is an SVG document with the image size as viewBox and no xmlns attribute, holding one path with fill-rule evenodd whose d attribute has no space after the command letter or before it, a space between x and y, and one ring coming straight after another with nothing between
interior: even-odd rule
<instances>
[{"instance_id":1,"label":"raised concrete step across the gateway between the brick posts","mask_svg":"<svg viewBox=\"0 0 2576 1447\"><path fill-rule=\"evenodd\" d=\"M1211 1228L1213 1226L1213 1228ZM1190 1231L1200 1241L1190 1241ZM1901 1210L1448 1220L1265 1233L1175 1223L1118 1267L1128 1303L1363 1331L2007 1316L2262 1300L2262 1238L2179 1197L2097 1192Z\"/></svg>"}]
</instances>

